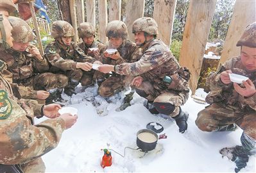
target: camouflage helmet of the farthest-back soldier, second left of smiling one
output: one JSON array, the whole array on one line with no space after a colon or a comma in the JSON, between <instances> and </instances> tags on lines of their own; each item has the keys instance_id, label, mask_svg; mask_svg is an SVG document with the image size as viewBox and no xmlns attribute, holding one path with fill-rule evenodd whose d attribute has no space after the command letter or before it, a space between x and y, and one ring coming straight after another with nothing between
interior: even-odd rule
<instances>
[{"instance_id":1,"label":"camouflage helmet of the farthest-back soldier, second left of smiling one","mask_svg":"<svg viewBox=\"0 0 256 173\"><path fill-rule=\"evenodd\" d=\"M78 26L78 37L91 37L96 34L94 26L89 22L83 22Z\"/></svg>"}]
</instances>

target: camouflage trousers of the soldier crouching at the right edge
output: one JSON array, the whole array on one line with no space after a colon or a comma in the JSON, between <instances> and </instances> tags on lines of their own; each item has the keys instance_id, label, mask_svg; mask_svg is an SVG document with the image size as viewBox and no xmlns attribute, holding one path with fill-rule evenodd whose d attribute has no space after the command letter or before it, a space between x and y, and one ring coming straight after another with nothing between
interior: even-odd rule
<instances>
[{"instance_id":1,"label":"camouflage trousers of the soldier crouching at the right edge","mask_svg":"<svg viewBox=\"0 0 256 173\"><path fill-rule=\"evenodd\" d=\"M213 103L198 113L196 126L202 131L217 131L222 126L237 124L244 133L256 140L256 111L244 111Z\"/></svg>"}]
</instances>

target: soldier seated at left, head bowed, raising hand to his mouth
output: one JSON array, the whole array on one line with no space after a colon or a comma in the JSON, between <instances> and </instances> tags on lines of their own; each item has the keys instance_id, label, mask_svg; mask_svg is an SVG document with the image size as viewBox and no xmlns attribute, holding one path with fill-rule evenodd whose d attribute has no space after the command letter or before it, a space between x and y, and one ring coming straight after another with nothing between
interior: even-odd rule
<instances>
[{"instance_id":1,"label":"soldier seated at left, head bowed, raising hand to his mouth","mask_svg":"<svg viewBox=\"0 0 256 173\"><path fill-rule=\"evenodd\" d=\"M56 88L64 88L68 78L63 74L47 72L49 65L41 56L37 47L31 45L33 31L30 26L17 17L9 17L13 26L13 46L0 51L1 60L6 62L12 72L13 91L19 99L46 99L49 92ZM54 95L54 92L51 92Z\"/></svg>"}]
</instances>

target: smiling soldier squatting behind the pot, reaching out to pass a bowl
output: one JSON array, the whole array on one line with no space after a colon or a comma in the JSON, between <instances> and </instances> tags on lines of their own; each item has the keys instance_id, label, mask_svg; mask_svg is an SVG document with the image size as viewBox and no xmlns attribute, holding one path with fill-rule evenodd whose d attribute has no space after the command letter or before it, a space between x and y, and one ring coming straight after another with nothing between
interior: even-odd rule
<instances>
[{"instance_id":1,"label":"smiling soldier squatting behind the pot, reaching out to pass a bowl","mask_svg":"<svg viewBox=\"0 0 256 173\"><path fill-rule=\"evenodd\" d=\"M150 17L142 17L133 22L132 32L136 45L144 53L138 62L120 65L102 65L101 72L114 71L117 74L137 76L131 85L137 94L148 100L146 105L151 113L162 113L176 120L179 131L187 129L188 115L182 106L189 97L189 72L180 67L169 47L158 34L157 22ZM139 75L139 76L138 76ZM150 104L153 103L153 104Z\"/></svg>"}]
</instances>

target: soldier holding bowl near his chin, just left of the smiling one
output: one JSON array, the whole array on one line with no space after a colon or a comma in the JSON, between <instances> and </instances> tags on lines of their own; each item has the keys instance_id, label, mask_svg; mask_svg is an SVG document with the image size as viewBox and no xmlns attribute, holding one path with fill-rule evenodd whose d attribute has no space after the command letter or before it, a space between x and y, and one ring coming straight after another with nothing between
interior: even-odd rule
<instances>
[{"instance_id":1,"label":"soldier holding bowl near his chin, just left of the smiling one","mask_svg":"<svg viewBox=\"0 0 256 173\"><path fill-rule=\"evenodd\" d=\"M136 62L139 60L139 58L141 58L142 54L140 53L140 49L136 46L136 44L130 42L130 40L127 40L128 31L124 22L109 22L106 28L106 36L109 40L108 47L117 49L117 52L114 54L108 54L107 51L105 51L103 53L103 63L118 65L121 63ZM103 97L112 96L116 92L123 90L124 86L128 85L132 79L132 76L123 76L114 72L110 78L107 78L99 86L99 95ZM128 104L126 106L130 106L133 93L134 91L126 95L124 98L124 103Z\"/></svg>"}]
</instances>

